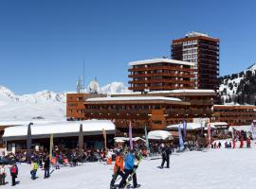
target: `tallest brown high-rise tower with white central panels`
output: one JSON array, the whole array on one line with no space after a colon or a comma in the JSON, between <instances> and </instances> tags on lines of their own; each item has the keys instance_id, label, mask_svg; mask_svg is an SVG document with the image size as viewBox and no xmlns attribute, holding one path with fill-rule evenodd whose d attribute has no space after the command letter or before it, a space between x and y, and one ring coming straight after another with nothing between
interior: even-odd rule
<instances>
[{"instance_id":1,"label":"tallest brown high-rise tower with white central panels","mask_svg":"<svg viewBox=\"0 0 256 189\"><path fill-rule=\"evenodd\" d=\"M172 59L194 62L197 89L218 89L219 39L192 32L173 41Z\"/></svg>"}]
</instances>

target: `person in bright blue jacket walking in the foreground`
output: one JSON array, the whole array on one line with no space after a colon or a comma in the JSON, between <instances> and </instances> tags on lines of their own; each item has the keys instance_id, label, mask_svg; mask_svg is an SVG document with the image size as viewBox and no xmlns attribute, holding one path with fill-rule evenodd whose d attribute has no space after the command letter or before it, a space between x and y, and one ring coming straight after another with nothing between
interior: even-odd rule
<instances>
[{"instance_id":1,"label":"person in bright blue jacket walking in the foreground","mask_svg":"<svg viewBox=\"0 0 256 189\"><path fill-rule=\"evenodd\" d=\"M136 175L136 169L137 165L135 164L135 154L136 151L134 149L130 150L128 155L125 158L125 165L124 165L124 176L122 180L119 183L119 189L124 188L127 184L127 178L129 175L133 175L133 183L134 188L138 188L140 184L137 184L137 175Z\"/></svg>"}]
</instances>

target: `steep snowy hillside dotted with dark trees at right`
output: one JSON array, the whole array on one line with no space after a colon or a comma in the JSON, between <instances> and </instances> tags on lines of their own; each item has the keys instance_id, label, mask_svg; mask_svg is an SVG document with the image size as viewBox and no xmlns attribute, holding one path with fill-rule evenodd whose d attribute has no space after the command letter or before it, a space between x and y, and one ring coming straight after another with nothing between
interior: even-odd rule
<instances>
[{"instance_id":1,"label":"steep snowy hillside dotted with dark trees at right","mask_svg":"<svg viewBox=\"0 0 256 189\"><path fill-rule=\"evenodd\" d=\"M220 77L219 94L222 104L256 103L256 63L245 71Z\"/></svg>"}]
</instances>

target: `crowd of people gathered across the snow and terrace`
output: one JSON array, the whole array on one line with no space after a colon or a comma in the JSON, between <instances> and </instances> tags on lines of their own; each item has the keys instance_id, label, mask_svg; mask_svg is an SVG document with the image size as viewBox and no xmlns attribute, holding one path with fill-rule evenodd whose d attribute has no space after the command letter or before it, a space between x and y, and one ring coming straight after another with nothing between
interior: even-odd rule
<instances>
[{"instance_id":1,"label":"crowd of people gathered across the snow and terrace","mask_svg":"<svg viewBox=\"0 0 256 189\"><path fill-rule=\"evenodd\" d=\"M247 144L250 147L250 137L244 132L237 132L232 141L226 141L223 145L220 141L213 142L211 148L235 148L240 141L240 146L243 148ZM200 148L197 142L187 141L184 143L184 150L196 150ZM122 144L115 144L107 150L102 149L86 149L82 152L76 149L60 150L56 147L52 154L46 151L33 151L29 156L26 151L9 153L2 156L0 160L0 185L6 183L7 174L11 178L11 185L16 184L18 178L19 168L18 163L30 164L31 180L37 179L38 170L45 172L44 179L48 179L54 169L60 169L62 166L78 166L80 163L86 162L104 162L106 164L114 163L114 174L110 181L110 188L127 188L128 185L133 184L133 188L137 188L140 184L137 183L137 168L140 161L150 156L155 156L162 159L159 168L170 168L170 156L174 151L178 151L178 144L162 143L151 141L147 147L145 142L137 141L133 148L130 148L129 142ZM150 152L150 153L149 153ZM154 158L154 157L153 157ZM108 160L111 160L108 162ZM52 167L50 169L50 167ZM133 180L133 183L131 183ZM119 184L117 184L119 182Z\"/></svg>"}]
</instances>

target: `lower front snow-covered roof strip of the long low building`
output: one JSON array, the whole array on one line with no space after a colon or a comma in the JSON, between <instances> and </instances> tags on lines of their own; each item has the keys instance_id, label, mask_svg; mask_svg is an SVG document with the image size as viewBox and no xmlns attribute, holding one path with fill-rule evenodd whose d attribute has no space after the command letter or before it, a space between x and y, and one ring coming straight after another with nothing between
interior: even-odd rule
<instances>
[{"instance_id":1,"label":"lower front snow-covered roof strip of the long low building","mask_svg":"<svg viewBox=\"0 0 256 189\"><path fill-rule=\"evenodd\" d=\"M86 102L96 102L96 101L147 101L147 100L166 100L166 101L178 101L182 100L175 97L164 97L164 96L119 96L119 97L95 97L88 98Z\"/></svg>"}]
</instances>

